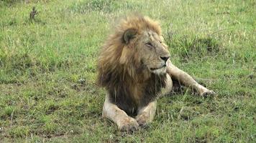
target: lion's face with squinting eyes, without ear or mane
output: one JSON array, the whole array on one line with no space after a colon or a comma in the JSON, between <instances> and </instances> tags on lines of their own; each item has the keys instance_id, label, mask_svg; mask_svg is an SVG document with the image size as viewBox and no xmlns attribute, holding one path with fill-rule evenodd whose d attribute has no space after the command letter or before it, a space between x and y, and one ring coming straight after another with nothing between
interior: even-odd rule
<instances>
[{"instance_id":1,"label":"lion's face with squinting eyes, without ear or mane","mask_svg":"<svg viewBox=\"0 0 256 143\"><path fill-rule=\"evenodd\" d=\"M137 40L137 52L147 69L155 74L164 74L170 53L163 43L163 36L154 31L143 31Z\"/></svg>"}]
</instances>

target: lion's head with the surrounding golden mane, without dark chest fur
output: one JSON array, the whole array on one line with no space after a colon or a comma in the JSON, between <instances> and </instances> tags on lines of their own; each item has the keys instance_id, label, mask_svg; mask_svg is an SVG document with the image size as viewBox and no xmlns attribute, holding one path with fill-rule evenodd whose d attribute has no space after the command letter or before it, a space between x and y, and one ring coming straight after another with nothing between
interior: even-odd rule
<instances>
[{"instance_id":1,"label":"lion's head with the surrounding golden mane, without dark chest fur","mask_svg":"<svg viewBox=\"0 0 256 143\"><path fill-rule=\"evenodd\" d=\"M165 74L170 54L163 40L156 21L146 16L122 19L99 56L99 83L108 87L125 78L136 82Z\"/></svg>"}]
</instances>

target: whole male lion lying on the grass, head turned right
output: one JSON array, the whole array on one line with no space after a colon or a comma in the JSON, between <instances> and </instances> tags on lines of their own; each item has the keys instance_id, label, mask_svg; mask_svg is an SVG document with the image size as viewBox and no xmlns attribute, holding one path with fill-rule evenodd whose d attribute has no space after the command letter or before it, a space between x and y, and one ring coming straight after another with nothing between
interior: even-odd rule
<instances>
[{"instance_id":1,"label":"whole male lion lying on the grass, head turned right","mask_svg":"<svg viewBox=\"0 0 256 143\"><path fill-rule=\"evenodd\" d=\"M214 94L170 60L156 21L147 16L122 19L98 60L98 82L107 91L102 116L122 131L145 126L155 115L157 97L171 92L173 80L192 87L201 96Z\"/></svg>"}]
</instances>

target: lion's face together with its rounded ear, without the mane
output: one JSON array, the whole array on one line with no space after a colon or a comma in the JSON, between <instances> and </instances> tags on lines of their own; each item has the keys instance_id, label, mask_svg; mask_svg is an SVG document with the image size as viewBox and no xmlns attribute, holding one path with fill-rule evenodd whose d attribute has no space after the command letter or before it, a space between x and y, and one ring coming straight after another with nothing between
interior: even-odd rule
<instances>
[{"instance_id":1,"label":"lion's face together with its rounded ear, without the mane","mask_svg":"<svg viewBox=\"0 0 256 143\"><path fill-rule=\"evenodd\" d=\"M166 72L170 54L167 46L163 44L163 36L151 29L144 29L140 33L136 29L127 29L124 32L124 41L126 44L134 44L132 48L124 46L125 51L134 51L137 54L137 60L146 66L148 71L155 74ZM125 56L122 58L126 60Z\"/></svg>"}]
</instances>

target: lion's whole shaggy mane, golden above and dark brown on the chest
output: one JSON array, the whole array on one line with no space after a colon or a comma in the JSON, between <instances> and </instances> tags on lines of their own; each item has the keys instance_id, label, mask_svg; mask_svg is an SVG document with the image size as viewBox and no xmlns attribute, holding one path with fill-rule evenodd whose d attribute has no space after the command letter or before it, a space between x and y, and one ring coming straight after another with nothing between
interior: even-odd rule
<instances>
[{"instance_id":1,"label":"lion's whole shaggy mane, golden above and dark brown on the chest","mask_svg":"<svg viewBox=\"0 0 256 143\"><path fill-rule=\"evenodd\" d=\"M110 101L129 114L137 112L137 108L155 100L162 88L165 88L166 75L156 75L144 70L137 58L136 51L124 50L127 46L122 42L126 29L150 29L161 34L160 26L155 21L144 17L131 17L116 27L104 44L99 56L98 82L106 87ZM145 53L147 54L147 53ZM140 70L141 69L141 70Z\"/></svg>"}]
</instances>

